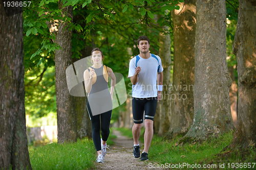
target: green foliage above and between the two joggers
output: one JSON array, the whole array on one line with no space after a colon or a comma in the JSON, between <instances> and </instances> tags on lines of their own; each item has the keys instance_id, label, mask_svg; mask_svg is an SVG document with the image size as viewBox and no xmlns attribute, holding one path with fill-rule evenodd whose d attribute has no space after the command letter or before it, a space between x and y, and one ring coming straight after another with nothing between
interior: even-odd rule
<instances>
[{"instance_id":1,"label":"green foliage above and between the two joggers","mask_svg":"<svg viewBox=\"0 0 256 170\"><path fill-rule=\"evenodd\" d=\"M87 6L87 14L83 15L87 23L79 22L83 26L87 26L89 23L90 26L93 26L90 32L84 32L83 34L86 43L93 42L95 47L100 47L104 55L103 63L111 67L114 72L119 72L123 75L127 92L131 90L131 87L128 86L131 81L127 78L129 62L131 56L139 54L137 48L138 37L147 35L151 39L151 53L156 54L159 51L158 35L161 29L156 26L156 21L152 18L154 18L154 11L158 11L160 14L164 14L164 12L154 7L154 5L150 9L144 7L134 8L143 3L127 2L127 4L122 4L120 2L113 6L113 3L105 2L103 7L103 4L99 5L92 2L90 6ZM77 10L82 12L80 8ZM104 15L100 15L102 11ZM147 15L144 14L142 16L143 11ZM111 14L108 12L111 12ZM80 15L78 11L75 13ZM163 19L163 21L165 20ZM76 38L77 44L78 39ZM128 50L132 54L129 54ZM77 58L79 57L79 52L73 53L73 55ZM117 120L122 111L125 111L125 104L113 110L112 121Z\"/></svg>"}]
</instances>

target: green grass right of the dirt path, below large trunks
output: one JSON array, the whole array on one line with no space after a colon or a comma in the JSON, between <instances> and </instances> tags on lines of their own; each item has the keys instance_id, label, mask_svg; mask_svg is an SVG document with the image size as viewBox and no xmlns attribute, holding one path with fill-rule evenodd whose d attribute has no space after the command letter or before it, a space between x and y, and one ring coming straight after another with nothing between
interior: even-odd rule
<instances>
[{"instance_id":1,"label":"green grass right of the dirt path, below large trunks","mask_svg":"<svg viewBox=\"0 0 256 170\"><path fill-rule=\"evenodd\" d=\"M127 137L132 136L130 129L117 128L117 130ZM143 130L140 140L142 137ZM154 135L150 150L148 151L148 158L154 164L148 164L148 167L170 169L245 169L245 165L248 166L248 163L251 163L250 169L256 169L256 164L252 168L253 163L256 163L255 149L251 148L239 153L231 152L230 150L223 152L223 148L232 141L232 132L223 134L218 138L177 145L176 143L180 138L181 136L178 136L172 140L166 140L163 137ZM143 140L141 141L143 142ZM184 166L180 166L183 164ZM206 168L203 168L204 165Z\"/></svg>"}]
</instances>

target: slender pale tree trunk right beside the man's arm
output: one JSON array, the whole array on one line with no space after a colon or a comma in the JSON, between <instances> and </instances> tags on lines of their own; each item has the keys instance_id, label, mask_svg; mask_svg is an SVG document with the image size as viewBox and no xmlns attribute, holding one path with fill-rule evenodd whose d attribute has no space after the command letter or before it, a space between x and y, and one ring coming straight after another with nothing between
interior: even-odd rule
<instances>
[{"instance_id":1,"label":"slender pale tree trunk right beside the man's arm","mask_svg":"<svg viewBox=\"0 0 256 170\"><path fill-rule=\"evenodd\" d=\"M163 26L163 30L169 30L169 27ZM159 56L163 66L163 91L162 99L158 105L160 115L158 135L163 136L170 127L170 101L169 101L169 84L170 84L170 35L159 33Z\"/></svg>"}]
</instances>

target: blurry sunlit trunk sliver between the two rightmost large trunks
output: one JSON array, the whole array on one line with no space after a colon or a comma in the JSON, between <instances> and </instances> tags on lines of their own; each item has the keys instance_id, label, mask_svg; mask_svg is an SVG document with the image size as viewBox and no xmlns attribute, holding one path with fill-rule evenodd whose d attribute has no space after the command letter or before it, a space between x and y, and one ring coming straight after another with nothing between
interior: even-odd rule
<instances>
[{"instance_id":1,"label":"blurry sunlit trunk sliver between the two rightmost large trunks","mask_svg":"<svg viewBox=\"0 0 256 170\"><path fill-rule=\"evenodd\" d=\"M229 98L230 98L230 107L231 107L231 115L234 123L234 127L237 128L238 125L238 115L237 115L237 108L238 108L238 85L236 80L234 79L234 69L232 66L228 67L229 75L232 79L232 85L229 89Z\"/></svg>"}]
</instances>

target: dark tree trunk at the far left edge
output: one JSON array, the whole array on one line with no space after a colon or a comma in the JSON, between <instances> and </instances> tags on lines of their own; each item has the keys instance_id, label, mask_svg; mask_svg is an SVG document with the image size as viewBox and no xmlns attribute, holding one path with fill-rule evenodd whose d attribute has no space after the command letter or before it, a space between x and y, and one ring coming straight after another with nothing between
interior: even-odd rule
<instances>
[{"instance_id":1,"label":"dark tree trunk at the far left edge","mask_svg":"<svg viewBox=\"0 0 256 170\"><path fill-rule=\"evenodd\" d=\"M0 3L0 169L32 169L26 134L23 14Z\"/></svg>"}]
</instances>

